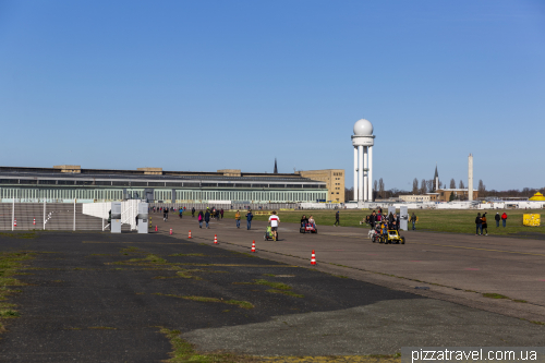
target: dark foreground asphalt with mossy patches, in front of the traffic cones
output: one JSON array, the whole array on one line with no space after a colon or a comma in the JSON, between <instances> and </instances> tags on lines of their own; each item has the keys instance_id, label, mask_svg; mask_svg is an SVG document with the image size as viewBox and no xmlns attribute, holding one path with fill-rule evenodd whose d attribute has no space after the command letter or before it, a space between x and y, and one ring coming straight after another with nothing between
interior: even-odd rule
<instances>
[{"instance_id":1,"label":"dark foreground asphalt with mossy patches, in front of the traffic cones","mask_svg":"<svg viewBox=\"0 0 545 363\"><path fill-rule=\"evenodd\" d=\"M208 231L209 232L209 231ZM201 232L197 232L199 234ZM395 354L404 346L543 346L545 327L161 233L0 237L34 251L2 319L2 362L154 362L178 329L201 351ZM308 266L310 267L310 266Z\"/></svg>"}]
</instances>

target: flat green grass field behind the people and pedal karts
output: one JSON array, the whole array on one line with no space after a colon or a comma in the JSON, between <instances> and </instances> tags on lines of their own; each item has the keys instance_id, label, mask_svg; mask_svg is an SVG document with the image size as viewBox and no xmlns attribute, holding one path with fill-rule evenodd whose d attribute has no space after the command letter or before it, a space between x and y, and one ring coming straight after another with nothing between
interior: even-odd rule
<instances>
[{"instance_id":1,"label":"flat green grass field behind the people and pedal karts","mask_svg":"<svg viewBox=\"0 0 545 363\"><path fill-rule=\"evenodd\" d=\"M254 210L255 211L255 210ZM486 210L437 210L437 209L414 209L409 210L409 215L415 213L419 217L416 230L436 231L436 232L450 232L450 233L475 233L475 217L477 213L483 214ZM491 210L486 215L488 221L488 235L508 235L512 233L541 233L545 235L545 222L542 220L540 227L525 227L522 225L523 214L538 214L542 218L545 217L544 209L537 210L520 210L510 209L507 211L507 227L496 228L494 216L498 210ZM299 223L302 215L314 216L316 225L332 226L335 223L336 210L277 210L281 222ZM399 213L399 210L398 210ZM500 211L500 215L504 210ZM244 221L245 211L241 210L242 220ZM340 225L343 227L360 227L368 228L366 225L360 226L360 220L365 219L370 215L370 210L361 209L341 209L340 210ZM234 219L234 211L226 211L226 218ZM268 216L254 216L254 220L268 220ZM411 223L409 223L411 228Z\"/></svg>"}]
</instances>

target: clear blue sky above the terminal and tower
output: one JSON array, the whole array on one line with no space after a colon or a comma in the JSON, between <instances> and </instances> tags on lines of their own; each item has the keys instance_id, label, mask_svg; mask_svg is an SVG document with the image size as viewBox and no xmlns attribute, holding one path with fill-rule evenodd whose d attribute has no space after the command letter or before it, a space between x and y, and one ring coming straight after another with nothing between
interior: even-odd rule
<instances>
[{"instance_id":1,"label":"clear blue sky above the terminal and tower","mask_svg":"<svg viewBox=\"0 0 545 363\"><path fill-rule=\"evenodd\" d=\"M544 1L0 0L0 165L545 186Z\"/></svg>"}]
</instances>

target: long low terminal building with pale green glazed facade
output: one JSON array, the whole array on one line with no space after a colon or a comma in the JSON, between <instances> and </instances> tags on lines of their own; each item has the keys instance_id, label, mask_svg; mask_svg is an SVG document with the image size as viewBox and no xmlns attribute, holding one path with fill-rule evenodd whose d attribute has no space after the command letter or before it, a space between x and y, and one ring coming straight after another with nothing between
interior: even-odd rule
<instances>
[{"instance_id":1,"label":"long low terminal building with pale green glazed facade","mask_svg":"<svg viewBox=\"0 0 545 363\"><path fill-rule=\"evenodd\" d=\"M327 184L299 173L217 172L0 167L0 198L22 203L93 203L146 199L177 204L270 204L328 198Z\"/></svg>"}]
</instances>

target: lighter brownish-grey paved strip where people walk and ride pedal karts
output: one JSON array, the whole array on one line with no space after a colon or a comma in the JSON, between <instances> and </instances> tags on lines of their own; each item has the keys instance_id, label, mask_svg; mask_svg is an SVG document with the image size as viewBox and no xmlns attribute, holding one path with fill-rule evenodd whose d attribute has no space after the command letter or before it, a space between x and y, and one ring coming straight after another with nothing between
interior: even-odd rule
<instances>
[{"instance_id":1,"label":"lighter brownish-grey paved strip where people walk and ride pedal karts","mask_svg":"<svg viewBox=\"0 0 545 363\"><path fill-rule=\"evenodd\" d=\"M299 225L281 222L280 240L271 242L263 240L264 221L253 221L246 230L244 221L237 229L233 219L213 220L205 230L189 213L168 222L152 215L160 233L172 228L173 235L183 239L191 229L205 243L217 234L234 251L249 251L255 240L261 256L301 266L308 266L315 250L323 271L401 291L426 287L428 291L417 293L545 323L545 252L540 240L404 231L404 245L385 245L371 242L368 228L317 226L317 234L302 234Z\"/></svg>"}]
</instances>

